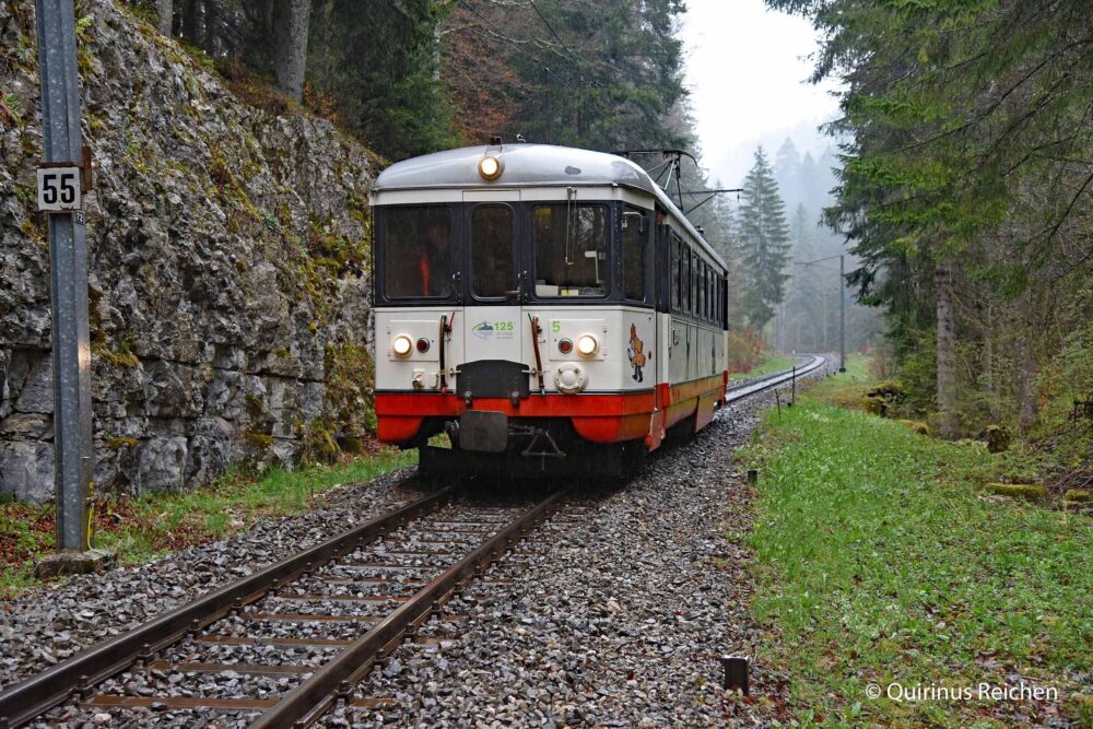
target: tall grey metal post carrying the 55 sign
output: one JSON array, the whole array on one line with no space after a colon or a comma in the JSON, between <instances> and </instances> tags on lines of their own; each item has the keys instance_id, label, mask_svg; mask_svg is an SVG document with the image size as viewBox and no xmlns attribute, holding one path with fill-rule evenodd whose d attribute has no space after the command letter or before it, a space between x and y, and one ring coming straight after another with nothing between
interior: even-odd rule
<instances>
[{"instance_id":1,"label":"tall grey metal post carrying the 55 sign","mask_svg":"<svg viewBox=\"0 0 1093 729\"><path fill-rule=\"evenodd\" d=\"M49 215L52 304L54 454L57 549L85 562L87 491L94 472L87 245L83 192L90 155L80 130L80 77L72 0L35 0L46 157L38 169L38 209ZM80 553L73 554L73 553ZM54 572L80 567L55 566Z\"/></svg>"}]
</instances>

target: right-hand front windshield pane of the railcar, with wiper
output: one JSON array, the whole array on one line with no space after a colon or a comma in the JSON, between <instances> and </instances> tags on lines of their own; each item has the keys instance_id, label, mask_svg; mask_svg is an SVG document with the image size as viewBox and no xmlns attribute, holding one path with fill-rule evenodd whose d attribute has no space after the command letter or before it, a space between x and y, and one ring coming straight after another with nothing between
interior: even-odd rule
<instances>
[{"instance_id":1,"label":"right-hand front windshield pane of the railcar, with wiper","mask_svg":"<svg viewBox=\"0 0 1093 729\"><path fill-rule=\"evenodd\" d=\"M608 232L604 205L538 205L532 215L537 296L607 296Z\"/></svg>"}]
</instances>

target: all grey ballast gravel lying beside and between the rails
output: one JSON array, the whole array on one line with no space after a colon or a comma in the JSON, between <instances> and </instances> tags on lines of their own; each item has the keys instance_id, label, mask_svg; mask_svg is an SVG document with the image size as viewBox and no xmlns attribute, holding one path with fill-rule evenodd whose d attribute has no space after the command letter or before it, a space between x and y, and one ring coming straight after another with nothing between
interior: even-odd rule
<instances>
[{"instance_id":1,"label":"all grey ballast gravel lying beside and between the rails","mask_svg":"<svg viewBox=\"0 0 1093 729\"><path fill-rule=\"evenodd\" d=\"M622 487L569 502L528 541L477 579L355 687L371 707L339 707L328 727L769 726L785 720L788 683L752 670L753 697L720 687L719 657L750 655L750 492L733 452L773 395L718 413L693 442L650 459ZM145 622L302 546L421 495L406 472L339 489L308 515L259 522L251 531L139 568L77 578L0 612L0 681L30 675ZM415 533L447 552L443 533ZM391 545L397 550L406 548ZM388 549L376 545L373 554ZM366 550L369 551L371 550ZM365 556L362 552L360 556ZM387 558L398 558L387 555ZM442 560L443 561L443 560ZM412 562L411 562L412 563ZM418 564L421 564L420 562ZM245 566L240 566L245 565ZM424 566L424 565L422 565ZM407 573L399 579L426 577ZM341 577L337 571L326 577ZM387 586L391 588L396 586ZM340 595L338 581L292 588ZM384 589L384 588L377 588ZM380 593L380 592L375 592ZM267 607L312 612L306 603ZM376 607L379 612L379 605ZM337 602L314 608L339 614ZM269 612L262 610L262 612ZM210 633L245 636L257 625L228 619ZM261 624L265 636L346 639L346 624ZM163 651L173 663L284 663L320 667L330 647L196 645ZM151 667L118 674L96 691L173 698L273 698L309 675L186 673ZM243 727L252 712L58 707L34 726Z\"/></svg>"}]
</instances>

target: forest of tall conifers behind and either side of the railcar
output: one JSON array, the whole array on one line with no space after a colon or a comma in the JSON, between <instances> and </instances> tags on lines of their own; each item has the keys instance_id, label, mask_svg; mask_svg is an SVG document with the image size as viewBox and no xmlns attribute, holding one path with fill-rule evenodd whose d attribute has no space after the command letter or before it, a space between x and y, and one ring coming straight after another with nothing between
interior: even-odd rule
<instances>
[{"instance_id":1,"label":"forest of tall conifers behind and either side of the railcar","mask_svg":"<svg viewBox=\"0 0 1093 729\"><path fill-rule=\"evenodd\" d=\"M302 104L392 161L491 134L701 161L682 0L138 4L236 84L278 87L266 103ZM756 150L745 180L684 157L683 190L743 187L691 213L732 268L734 345L836 349L838 261L798 263L845 254L848 349L877 350L900 412L947 437L1061 438L1085 468L1090 439L1068 423L1093 392L1093 11L767 4L815 24L815 80L843 81L842 114L819 158L787 140Z\"/></svg>"}]
</instances>

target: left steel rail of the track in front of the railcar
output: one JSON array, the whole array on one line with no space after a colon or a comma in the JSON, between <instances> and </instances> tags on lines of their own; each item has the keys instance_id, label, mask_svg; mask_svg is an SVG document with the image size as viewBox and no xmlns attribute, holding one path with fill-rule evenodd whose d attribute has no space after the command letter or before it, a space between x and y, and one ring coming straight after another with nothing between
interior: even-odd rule
<instances>
[{"instance_id":1,"label":"left steel rail of the track in front of the railcar","mask_svg":"<svg viewBox=\"0 0 1093 729\"><path fill-rule=\"evenodd\" d=\"M37 675L0 692L0 727L17 727L130 667L136 660L171 646L188 633L220 620L232 610L260 599L308 569L349 554L406 521L434 510L451 489L425 496L359 527L349 529L299 554L236 580L192 602L164 613L131 631L92 646Z\"/></svg>"}]
</instances>

